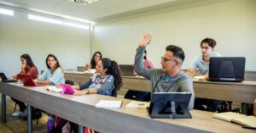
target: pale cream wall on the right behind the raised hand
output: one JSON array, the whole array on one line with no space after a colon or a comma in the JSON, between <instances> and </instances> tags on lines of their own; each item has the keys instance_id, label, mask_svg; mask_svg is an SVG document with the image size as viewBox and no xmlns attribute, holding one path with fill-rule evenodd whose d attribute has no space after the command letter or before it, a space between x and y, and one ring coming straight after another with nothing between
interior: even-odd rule
<instances>
[{"instance_id":1,"label":"pale cream wall on the right behind the raised hand","mask_svg":"<svg viewBox=\"0 0 256 133\"><path fill-rule=\"evenodd\" d=\"M212 37L218 42L218 53L246 57L246 69L256 70L255 5L255 0L230 0L96 25L93 49L119 64L133 64L138 42L151 31L153 41L147 48L148 59L160 67L160 56L166 46L175 44L183 47L183 69L188 69L195 56L201 54L201 40Z\"/></svg>"}]
</instances>

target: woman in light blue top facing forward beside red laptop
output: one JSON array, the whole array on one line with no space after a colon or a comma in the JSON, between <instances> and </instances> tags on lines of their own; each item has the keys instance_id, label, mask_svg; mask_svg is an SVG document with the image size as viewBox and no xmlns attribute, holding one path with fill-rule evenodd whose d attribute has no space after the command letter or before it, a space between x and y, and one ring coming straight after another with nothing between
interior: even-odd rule
<instances>
[{"instance_id":1,"label":"woman in light blue top facing forward beside red laptop","mask_svg":"<svg viewBox=\"0 0 256 133\"><path fill-rule=\"evenodd\" d=\"M58 59L53 54L49 54L46 58L47 69L42 75L39 76L38 80L35 80L41 85L57 85L59 83L65 83L63 70Z\"/></svg>"}]
</instances>

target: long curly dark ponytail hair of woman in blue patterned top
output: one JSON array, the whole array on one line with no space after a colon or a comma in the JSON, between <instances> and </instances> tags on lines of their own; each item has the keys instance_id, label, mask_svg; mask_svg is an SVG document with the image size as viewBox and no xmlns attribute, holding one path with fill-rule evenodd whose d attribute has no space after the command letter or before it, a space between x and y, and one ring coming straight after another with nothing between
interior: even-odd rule
<instances>
[{"instance_id":1,"label":"long curly dark ponytail hair of woman in blue patterned top","mask_svg":"<svg viewBox=\"0 0 256 133\"><path fill-rule=\"evenodd\" d=\"M120 90L123 86L122 76L119 69L119 64L114 60L111 61L109 58L102 58L103 69L108 69L106 74L113 75L114 78L114 89Z\"/></svg>"}]
</instances>

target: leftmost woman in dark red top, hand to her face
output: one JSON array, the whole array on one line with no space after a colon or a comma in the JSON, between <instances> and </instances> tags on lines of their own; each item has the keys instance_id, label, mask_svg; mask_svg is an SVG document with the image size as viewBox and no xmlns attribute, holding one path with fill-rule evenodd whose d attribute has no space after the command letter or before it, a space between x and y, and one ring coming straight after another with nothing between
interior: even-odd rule
<instances>
[{"instance_id":1,"label":"leftmost woman in dark red top, hand to her face","mask_svg":"<svg viewBox=\"0 0 256 133\"><path fill-rule=\"evenodd\" d=\"M35 66L35 64L32 61L32 58L28 54L22 54L20 56L20 61L21 61L21 70L19 75L30 75L32 79L38 78L38 69ZM18 76L15 75L15 79L18 79ZM18 117L26 117L26 104L23 102L20 102L19 100L12 98L11 99L18 104L20 110L15 111L13 113L13 116L18 116Z\"/></svg>"}]
</instances>

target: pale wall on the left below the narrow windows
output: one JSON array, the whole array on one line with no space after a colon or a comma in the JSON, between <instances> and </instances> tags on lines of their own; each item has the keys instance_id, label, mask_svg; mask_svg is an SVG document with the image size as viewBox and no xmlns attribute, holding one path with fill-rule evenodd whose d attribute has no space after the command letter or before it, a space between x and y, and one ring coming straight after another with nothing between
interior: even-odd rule
<instances>
[{"instance_id":1,"label":"pale wall on the left below the narrow windows","mask_svg":"<svg viewBox=\"0 0 256 133\"><path fill-rule=\"evenodd\" d=\"M90 60L90 30L29 20L20 11L15 17L0 14L0 72L17 74L23 53L30 54L39 70L46 69L49 53L63 69L75 70Z\"/></svg>"}]
</instances>

